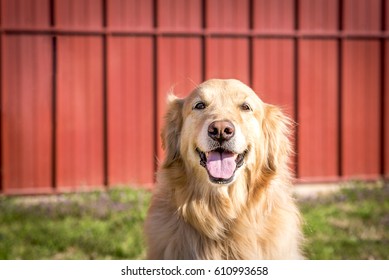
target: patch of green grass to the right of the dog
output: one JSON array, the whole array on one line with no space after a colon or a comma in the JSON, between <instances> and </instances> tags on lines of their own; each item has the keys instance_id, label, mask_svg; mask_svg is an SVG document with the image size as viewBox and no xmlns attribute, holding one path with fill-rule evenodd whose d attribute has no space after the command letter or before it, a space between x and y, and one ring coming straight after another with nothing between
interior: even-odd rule
<instances>
[{"instance_id":1,"label":"patch of green grass to the right of the dog","mask_svg":"<svg viewBox=\"0 0 389 280\"><path fill-rule=\"evenodd\" d=\"M389 259L389 184L352 184L300 201L308 259Z\"/></svg>"}]
</instances>

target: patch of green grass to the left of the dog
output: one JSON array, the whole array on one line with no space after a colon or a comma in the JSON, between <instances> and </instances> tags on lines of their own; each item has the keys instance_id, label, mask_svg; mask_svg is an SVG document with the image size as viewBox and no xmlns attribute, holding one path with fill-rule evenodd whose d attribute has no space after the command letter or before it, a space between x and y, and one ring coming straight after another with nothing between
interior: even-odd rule
<instances>
[{"instance_id":1,"label":"patch of green grass to the left of the dog","mask_svg":"<svg viewBox=\"0 0 389 280\"><path fill-rule=\"evenodd\" d=\"M0 259L141 259L150 193L0 198Z\"/></svg>"}]
</instances>

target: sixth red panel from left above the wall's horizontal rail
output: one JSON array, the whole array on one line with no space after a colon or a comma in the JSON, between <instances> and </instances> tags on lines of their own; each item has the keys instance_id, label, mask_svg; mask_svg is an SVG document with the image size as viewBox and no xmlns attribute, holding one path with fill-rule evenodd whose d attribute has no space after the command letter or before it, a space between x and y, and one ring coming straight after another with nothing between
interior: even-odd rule
<instances>
[{"instance_id":1,"label":"sixth red panel from left above the wall's horizontal rail","mask_svg":"<svg viewBox=\"0 0 389 280\"><path fill-rule=\"evenodd\" d=\"M294 30L295 0L254 0L253 28L261 32Z\"/></svg>"}]
</instances>

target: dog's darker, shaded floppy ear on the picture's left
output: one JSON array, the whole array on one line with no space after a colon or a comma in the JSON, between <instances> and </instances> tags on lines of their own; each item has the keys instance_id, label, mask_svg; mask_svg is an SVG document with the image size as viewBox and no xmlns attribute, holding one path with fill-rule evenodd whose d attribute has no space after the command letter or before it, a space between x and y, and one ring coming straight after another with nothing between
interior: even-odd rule
<instances>
[{"instance_id":1,"label":"dog's darker, shaded floppy ear on the picture's left","mask_svg":"<svg viewBox=\"0 0 389 280\"><path fill-rule=\"evenodd\" d=\"M165 125L162 129L162 148L165 150L164 164L169 166L180 157L183 99L173 94L168 96Z\"/></svg>"}]
</instances>

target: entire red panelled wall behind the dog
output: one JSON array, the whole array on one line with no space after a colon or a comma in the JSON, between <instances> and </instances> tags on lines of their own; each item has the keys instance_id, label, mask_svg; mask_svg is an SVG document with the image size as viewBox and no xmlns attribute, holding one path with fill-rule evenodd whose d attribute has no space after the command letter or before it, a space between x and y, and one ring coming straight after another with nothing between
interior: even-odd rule
<instances>
[{"instance_id":1,"label":"entire red panelled wall behind the dog","mask_svg":"<svg viewBox=\"0 0 389 280\"><path fill-rule=\"evenodd\" d=\"M389 177L389 0L0 0L0 192L152 185L166 96L238 78L301 182Z\"/></svg>"}]
</instances>

